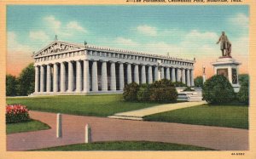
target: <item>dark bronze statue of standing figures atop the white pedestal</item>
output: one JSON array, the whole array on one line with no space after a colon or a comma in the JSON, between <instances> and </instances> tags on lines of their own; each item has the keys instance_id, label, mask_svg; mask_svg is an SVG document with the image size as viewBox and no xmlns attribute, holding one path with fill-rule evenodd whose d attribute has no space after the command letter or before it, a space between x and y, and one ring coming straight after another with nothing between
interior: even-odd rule
<instances>
[{"instance_id":1,"label":"dark bronze statue of standing figures atop the white pedestal","mask_svg":"<svg viewBox=\"0 0 256 159\"><path fill-rule=\"evenodd\" d=\"M220 43L220 50L222 51L222 57L231 57L231 43L225 32L222 31L221 36L218 38L217 44Z\"/></svg>"}]
</instances>

